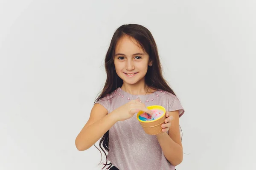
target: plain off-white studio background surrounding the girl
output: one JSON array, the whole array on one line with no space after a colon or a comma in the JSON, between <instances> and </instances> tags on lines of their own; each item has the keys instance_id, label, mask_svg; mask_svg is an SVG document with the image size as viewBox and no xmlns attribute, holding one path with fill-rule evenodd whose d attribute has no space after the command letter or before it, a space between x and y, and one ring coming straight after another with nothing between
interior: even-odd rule
<instances>
[{"instance_id":1,"label":"plain off-white studio background surrounding the girl","mask_svg":"<svg viewBox=\"0 0 256 170\"><path fill-rule=\"evenodd\" d=\"M75 139L122 24L147 27L185 114L177 170L256 167L255 0L0 0L0 169L100 170Z\"/></svg>"}]
</instances>

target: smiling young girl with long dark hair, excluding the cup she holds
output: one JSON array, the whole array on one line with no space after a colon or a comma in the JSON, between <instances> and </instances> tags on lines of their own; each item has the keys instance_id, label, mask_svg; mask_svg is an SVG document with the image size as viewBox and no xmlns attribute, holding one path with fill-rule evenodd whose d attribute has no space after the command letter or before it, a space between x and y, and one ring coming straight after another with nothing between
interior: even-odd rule
<instances>
[{"instance_id":1,"label":"smiling young girl with long dark hair, excluding the cup she holds","mask_svg":"<svg viewBox=\"0 0 256 170\"><path fill-rule=\"evenodd\" d=\"M102 137L100 148L107 156L102 169L175 170L183 160L179 118L184 109L162 76L150 31L137 24L120 26L108 48L105 70L105 86L76 137L77 149L87 150ZM148 135L137 120L138 111L151 114L146 108L150 105L166 108L163 133Z\"/></svg>"}]
</instances>

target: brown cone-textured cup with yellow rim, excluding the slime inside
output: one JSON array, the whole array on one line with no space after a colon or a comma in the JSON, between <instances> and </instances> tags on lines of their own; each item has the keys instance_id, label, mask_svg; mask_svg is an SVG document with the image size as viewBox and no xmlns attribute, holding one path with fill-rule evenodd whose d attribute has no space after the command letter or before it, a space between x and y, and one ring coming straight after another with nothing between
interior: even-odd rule
<instances>
[{"instance_id":1,"label":"brown cone-textured cup with yellow rim, excluding the slime inside","mask_svg":"<svg viewBox=\"0 0 256 170\"><path fill-rule=\"evenodd\" d=\"M137 113L137 119L140 121L140 125L143 127L145 133L149 135L156 135L159 133L162 133L162 127L161 125L164 123L164 120L166 119L166 109L163 106L159 105L152 105L147 107L149 110L152 109L159 109L163 111L163 115L155 120L150 121L143 121L139 119L139 116L144 113L144 111L139 111Z\"/></svg>"}]
</instances>

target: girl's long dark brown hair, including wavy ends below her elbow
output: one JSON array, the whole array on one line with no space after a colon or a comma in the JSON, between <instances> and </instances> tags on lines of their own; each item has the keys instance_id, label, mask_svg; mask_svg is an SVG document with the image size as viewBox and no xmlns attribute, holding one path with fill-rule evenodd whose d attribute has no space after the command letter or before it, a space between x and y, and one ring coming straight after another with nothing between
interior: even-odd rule
<instances>
[{"instance_id":1,"label":"girl's long dark brown hair, including wavy ends below her elbow","mask_svg":"<svg viewBox=\"0 0 256 170\"><path fill-rule=\"evenodd\" d=\"M123 80L116 74L114 56L116 50L116 43L125 35L134 38L138 42L140 47L142 47L143 50L149 55L149 60L152 61L152 66L148 66L148 71L145 75L145 84L151 89L163 90L175 95L174 91L169 87L168 83L163 78L162 66L160 64L157 45L151 32L144 26L138 24L125 24L116 29L111 39L110 46L105 56L105 71L107 73L107 79L101 94L97 97L94 104L99 99L102 99L106 95L111 94L111 92L116 90L116 88L121 87L123 84ZM100 139L99 147L102 149L106 156L106 163L103 163L104 167L102 167L102 169L104 169L108 165L109 166L107 167L107 169L109 169L112 166L112 163L108 163L107 154L105 152L105 150L109 151L108 131ZM96 148L99 150L98 147Z\"/></svg>"}]
</instances>

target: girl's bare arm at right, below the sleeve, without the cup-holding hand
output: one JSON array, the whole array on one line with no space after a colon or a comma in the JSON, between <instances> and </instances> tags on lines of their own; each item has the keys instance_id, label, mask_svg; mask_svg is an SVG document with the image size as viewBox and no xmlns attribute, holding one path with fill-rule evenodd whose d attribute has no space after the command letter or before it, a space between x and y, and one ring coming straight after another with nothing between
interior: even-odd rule
<instances>
[{"instance_id":1,"label":"girl's bare arm at right, below the sleeve, without the cup-holding hand","mask_svg":"<svg viewBox=\"0 0 256 170\"><path fill-rule=\"evenodd\" d=\"M183 148L180 139L179 111L168 112L169 116L173 116L172 125L169 133L160 133L157 140L163 150L166 159L174 166L180 164L183 160Z\"/></svg>"}]
</instances>

